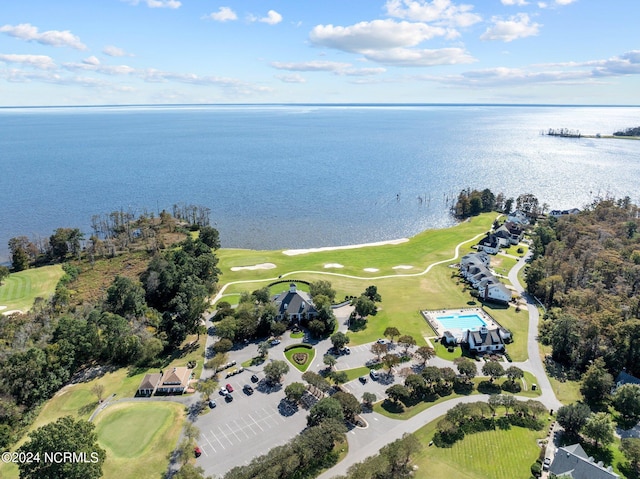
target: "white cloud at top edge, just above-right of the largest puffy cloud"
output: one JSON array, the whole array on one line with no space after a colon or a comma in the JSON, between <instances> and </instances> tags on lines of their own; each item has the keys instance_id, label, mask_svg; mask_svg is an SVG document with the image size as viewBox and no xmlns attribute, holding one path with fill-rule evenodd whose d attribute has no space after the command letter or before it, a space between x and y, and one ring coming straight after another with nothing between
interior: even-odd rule
<instances>
[{"instance_id":1,"label":"white cloud at top edge, just above-right of the largest puffy cloud","mask_svg":"<svg viewBox=\"0 0 640 479\"><path fill-rule=\"evenodd\" d=\"M454 5L450 0L387 0L385 8L391 17L436 25L468 27L482 20L471 11L473 5Z\"/></svg>"}]
</instances>

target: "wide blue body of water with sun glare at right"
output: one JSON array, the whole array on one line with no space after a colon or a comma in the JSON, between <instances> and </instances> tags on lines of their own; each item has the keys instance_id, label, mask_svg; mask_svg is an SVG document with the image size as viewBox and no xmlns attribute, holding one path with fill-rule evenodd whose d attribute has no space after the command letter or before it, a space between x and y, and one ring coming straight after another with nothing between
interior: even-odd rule
<instances>
[{"instance_id":1,"label":"wide blue body of water with sun glare at right","mask_svg":"<svg viewBox=\"0 0 640 479\"><path fill-rule=\"evenodd\" d=\"M0 109L0 261L113 210L211 208L225 247L395 239L453 223L466 187L551 208L637 201L638 107L175 106ZM419 197L422 199L420 200Z\"/></svg>"}]
</instances>

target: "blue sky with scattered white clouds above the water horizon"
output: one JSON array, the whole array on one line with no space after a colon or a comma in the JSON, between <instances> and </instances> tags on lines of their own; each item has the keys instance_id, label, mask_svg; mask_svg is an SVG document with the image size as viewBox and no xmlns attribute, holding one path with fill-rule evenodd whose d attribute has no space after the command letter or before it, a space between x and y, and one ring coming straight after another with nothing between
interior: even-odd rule
<instances>
[{"instance_id":1,"label":"blue sky with scattered white clouds above the water horizon","mask_svg":"<svg viewBox=\"0 0 640 479\"><path fill-rule=\"evenodd\" d=\"M638 104L638 0L11 0L0 106Z\"/></svg>"}]
</instances>

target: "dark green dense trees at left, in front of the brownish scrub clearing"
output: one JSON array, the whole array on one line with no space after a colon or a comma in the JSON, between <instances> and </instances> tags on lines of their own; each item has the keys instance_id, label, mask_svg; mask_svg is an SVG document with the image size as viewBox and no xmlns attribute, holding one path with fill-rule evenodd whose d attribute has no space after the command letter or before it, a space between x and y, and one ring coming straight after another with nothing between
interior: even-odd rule
<instances>
[{"instance_id":1,"label":"dark green dense trees at left, in front of the brownish scrub clearing","mask_svg":"<svg viewBox=\"0 0 640 479\"><path fill-rule=\"evenodd\" d=\"M50 300L0 322L0 447L14 442L37 406L88 365L162 367L187 335L202 332L215 291L217 230L200 229L150 256L139 278L116 276L99 301L71 304L88 261L63 264Z\"/></svg>"}]
</instances>

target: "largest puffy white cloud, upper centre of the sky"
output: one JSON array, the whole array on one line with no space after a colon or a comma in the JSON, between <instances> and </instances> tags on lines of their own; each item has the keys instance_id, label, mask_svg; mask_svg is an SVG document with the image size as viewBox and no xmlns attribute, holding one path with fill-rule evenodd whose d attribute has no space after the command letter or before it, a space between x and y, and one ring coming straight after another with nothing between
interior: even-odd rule
<instances>
[{"instance_id":1,"label":"largest puffy white cloud, upper centre of the sky","mask_svg":"<svg viewBox=\"0 0 640 479\"><path fill-rule=\"evenodd\" d=\"M348 27L317 25L309 34L315 45L351 53L418 45L424 40L444 36L447 31L425 23L374 20Z\"/></svg>"}]
</instances>

